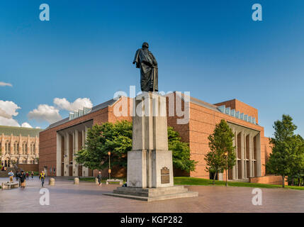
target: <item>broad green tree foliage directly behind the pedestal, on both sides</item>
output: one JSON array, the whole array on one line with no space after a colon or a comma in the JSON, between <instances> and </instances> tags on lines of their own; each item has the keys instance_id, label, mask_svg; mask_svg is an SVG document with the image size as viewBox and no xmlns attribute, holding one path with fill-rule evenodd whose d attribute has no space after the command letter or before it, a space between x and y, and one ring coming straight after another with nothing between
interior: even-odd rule
<instances>
[{"instance_id":1,"label":"broad green tree foliage directly behind the pedestal, on both sides","mask_svg":"<svg viewBox=\"0 0 304 227\"><path fill-rule=\"evenodd\" d=\"M168 146L172 150L174 168L195 170L196 162L190 160L187 143L181 142L179 133L168 127ZM76 161L91 170L103 170L108 167L108 151L111 151L111 165L126 167L128 151L132 150L132 123L117 121L103 123L89 128L85 148L76 154Z\"/></svg>"}]
</instances>

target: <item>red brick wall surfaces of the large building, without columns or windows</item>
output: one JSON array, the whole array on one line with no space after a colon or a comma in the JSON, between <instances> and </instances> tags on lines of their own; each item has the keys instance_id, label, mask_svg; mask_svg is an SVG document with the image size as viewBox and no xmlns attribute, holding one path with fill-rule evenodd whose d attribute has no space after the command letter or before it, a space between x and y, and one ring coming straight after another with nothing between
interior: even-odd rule
<instances>
[{"instance_id":1,"label":"red brick wall surfaces of the large building, without columns or windows","mask_svg":"<svg viewBox=\"0 0 304 227\"><path fill-rule=\"evenodd\" d=\"M176 94L174 93L174 100L176 99ZM168 112L168 101L167 98L167 113ZM221 103L223 104L223 103ZM174 101L175 105L175 101ZM220 105L220 104L217 104ZM247 104L243 104L240 101L232 100L229 104L231 107L233 105L239 106L239 111L243 111L245 114L249 114L251 116L255 116L257 118L257 109L248 106ZM115 111L118 110L122 111L125 106L128 106L127 116L116 116L114 114ZM184 111L184 101L181 100L182 111ZM175 106L174 106L175 107ZM245 112L247 108L248 112ZM175 108L174 108L175 109ZM178 124L176 121L178 118L176 113L175 116L168 116L167 122L168 126L172 126L176 131L179 132L182 141L189 143L190 150L191 150L191 159L198 161L196 165L196 171L191 172L191 177L203 177L209 178L209 173L206 171L206 161L204 157L206 153L208 153L208 135L213 133L215 124L220 123L221 119L225 119L230 123L235 123L240 126L244 126L247 128L252 128L256 131L260 132L261 135L261 175L265 175L265 160L269 152L271 151L269 145L267 143L268 138L264 137L264 128L261 126L254 125L247 121L242 121L238 118L228 116L227 114L220 113L218 111L214 111L213 109L209 109L204 106L200 106L198 104L191 103L188 106L190 111L190 120L186 124ZM252 111L252 112L250 112ZM67 123L63 123L60 126L55 128L47 129L40 133L40 162L39 162L39 170L43 170L44 166L47 166L48 170L50 167L56 167L56 142L57 142L57 135L56 132L67 128L69 126L74 126L78 123L82 123L85 121L93 120L94 124L104 123L104 122L116 122L121 120L132 121L132 99L127 97L122 97L120 100L113 106L108 106L104 109L99 111L86 114L85 116L81 116L80 118L76 118L72 121L68 121ZM256 115L254 115L256 114ZM56 167L57 168L57 167ZM176 170L176 173L179 172ZM94 175L97 175L98 172L94 171ZM107 174L107 172L106 172ZM53 174L54 175L54 174Z\"/></svg>"}]
</instances>

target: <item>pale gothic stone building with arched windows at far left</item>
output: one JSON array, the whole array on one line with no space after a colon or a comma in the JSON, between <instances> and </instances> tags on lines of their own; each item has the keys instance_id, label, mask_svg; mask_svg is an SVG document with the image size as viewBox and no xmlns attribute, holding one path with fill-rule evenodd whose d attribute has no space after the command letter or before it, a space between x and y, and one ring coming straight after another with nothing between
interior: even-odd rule
<instances>
[{"instance_id":1,"label":"pale gothic stone building with arched windows at far left","mask_svg":"<svg viewBox=\"0 0 304 227\"><path fill-rule=\"evenodd\" d=\"M38 171L40 131L38 128L0 126L1 165L11 167L16 163L23 170Z\"/></svg>"}]
</instances>

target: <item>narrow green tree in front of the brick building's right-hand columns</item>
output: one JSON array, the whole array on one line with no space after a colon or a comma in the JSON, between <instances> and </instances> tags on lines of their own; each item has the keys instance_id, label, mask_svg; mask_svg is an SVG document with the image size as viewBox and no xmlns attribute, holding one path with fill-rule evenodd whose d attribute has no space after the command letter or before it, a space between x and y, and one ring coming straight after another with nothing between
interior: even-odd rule
<instances>
[{"instance_id":1,"label":"narrow green tree in front of the brick building's right-hand columns","mask_svg":"<svg viewBox=\"0 0 304 227\"><path fill-rule=\"evenodd\" d=\"M214 174L215 177L219 172L226 170L226 187L227 187L227 171L230 170L236 162L235 146L233 146L233 138L231 128L225 120L215 125L213 134L208 136L210 152L205 155L207 162L206 170Z\"/></svg>"}]
</instances>

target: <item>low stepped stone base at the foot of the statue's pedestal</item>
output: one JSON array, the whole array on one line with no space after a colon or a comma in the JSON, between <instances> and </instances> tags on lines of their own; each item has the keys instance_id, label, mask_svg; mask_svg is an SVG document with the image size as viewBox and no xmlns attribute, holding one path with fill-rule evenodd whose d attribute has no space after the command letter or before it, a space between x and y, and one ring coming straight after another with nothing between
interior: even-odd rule
<instances>
[{"instance_id":1,"label":"low stepped stone base at the foot of the statue's pedestal","mask_svg":"<svg viewBox=\"0 0 304 227\"><path fill-rule=\"evenodd\" d=\"M105 193L107 196L116 196L142 201L157 201L164 199L179 199L198 196L198 192L188 192L184 186L162 187L162 188L135 188L118 187L113 193Z\"/></svg>"}]
</instances>

